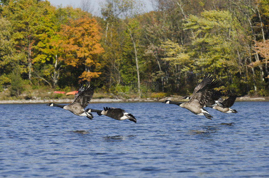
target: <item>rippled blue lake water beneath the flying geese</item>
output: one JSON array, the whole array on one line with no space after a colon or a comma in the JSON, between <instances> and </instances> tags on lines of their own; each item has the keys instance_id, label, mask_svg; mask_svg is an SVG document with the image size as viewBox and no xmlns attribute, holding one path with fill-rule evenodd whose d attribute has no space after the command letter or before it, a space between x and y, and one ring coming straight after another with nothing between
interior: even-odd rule
<instances>
[{"instance_id":1,"label":"rippled blue lake water beneath the flying geese","mask_svg":"<svg viewBox=\"0 0 269 178\"><path fill-rule=\"evenodd\" d=\"M269 177L269 102L206 108L209 120L173 104L118 107L137 123L76 116L46 104L0 104L1 177Z\"/></svg>"}]
</instances>

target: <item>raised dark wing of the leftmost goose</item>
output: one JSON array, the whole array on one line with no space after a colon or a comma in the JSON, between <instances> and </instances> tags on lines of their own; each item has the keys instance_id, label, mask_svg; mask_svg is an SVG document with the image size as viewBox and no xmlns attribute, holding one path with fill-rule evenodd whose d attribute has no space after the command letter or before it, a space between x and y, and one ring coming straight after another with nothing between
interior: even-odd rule
<instances>
[{"instance_id":1,"label":"raised dark wing of the leftmost goose","mask_svg":"<svg viewBox=\"0 0 269 178\"><path fill-rule=\"evenodd\" d=\"M94 95L94 86L86 82L85 87L80 84L79 91L75 94L74 100L71 105L76 105L77 107L86 108L90 103Z\"/></svg>"}]
</instances>

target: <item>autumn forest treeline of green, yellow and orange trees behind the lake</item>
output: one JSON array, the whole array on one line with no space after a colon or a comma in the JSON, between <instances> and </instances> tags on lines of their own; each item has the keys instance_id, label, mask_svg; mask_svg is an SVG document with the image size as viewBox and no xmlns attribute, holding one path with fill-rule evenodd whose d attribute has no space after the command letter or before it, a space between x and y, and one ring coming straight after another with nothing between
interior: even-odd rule
<instances>
[{"instance_id":1,"label":"autumn forest treeline of green, yellow and orange trees behind the lake","mask_svg":"<svg viewBox=\"0 0 269 178\"><path fill-rule=\"evenodd\" d=\"M217 91L269 96L269 0L105 0L101 17L42 0L2 0L0 90L91 81L157 82L192 93L209 72ZM150 90L150 88L149 88ZM138 91L140 92L140 91Z\"/></svg>"}]
</instances>

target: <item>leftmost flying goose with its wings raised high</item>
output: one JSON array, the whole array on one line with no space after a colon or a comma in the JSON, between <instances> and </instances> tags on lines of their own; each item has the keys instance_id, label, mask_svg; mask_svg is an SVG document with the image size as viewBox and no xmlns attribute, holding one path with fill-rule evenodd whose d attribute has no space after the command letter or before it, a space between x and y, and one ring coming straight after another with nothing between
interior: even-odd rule
<instances>
[{"instance_id":1,"label":"leftmost flying goose with its wings raised high","mask_svg":"<svg viewBox=\"0 0 269 178\"><path fill-rule=\"evenodd\" d=\"M59 105L55 103L49 103L47 106L56 106L59 108L63 108L65 110L69 110L75 115L78 116L86 116L89 119L93 119L93 115L91 113L87 113L84 108L88 106L90 100L94 95L94 86L90 86L89 82L86 82L85 87L80 84L78 93L75 94L74 100L69 105Z\"/></svg>"}]
</instances>

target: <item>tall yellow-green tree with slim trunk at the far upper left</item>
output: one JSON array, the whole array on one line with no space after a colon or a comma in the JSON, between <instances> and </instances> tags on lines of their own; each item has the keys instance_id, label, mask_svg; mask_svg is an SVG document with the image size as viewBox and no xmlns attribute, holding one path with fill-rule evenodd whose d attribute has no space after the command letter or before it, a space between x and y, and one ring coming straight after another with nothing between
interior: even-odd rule
<instances>
[{"instance_id":1,"label":"tall yellow-green tree with slim trunk at the far upper left","mask_svg":"<svg viewBox=\"0 0 269 178\"><path fill-rule=\"evenodd\" d=\"M3 16L13 24L15 46L27 56L28 79L32 77L33 50L36 43L36 33L40 23L40 15L46 9L42 9L43 1L22 0L10 1L3 8Z\"/></svg>"}]
</instances>

